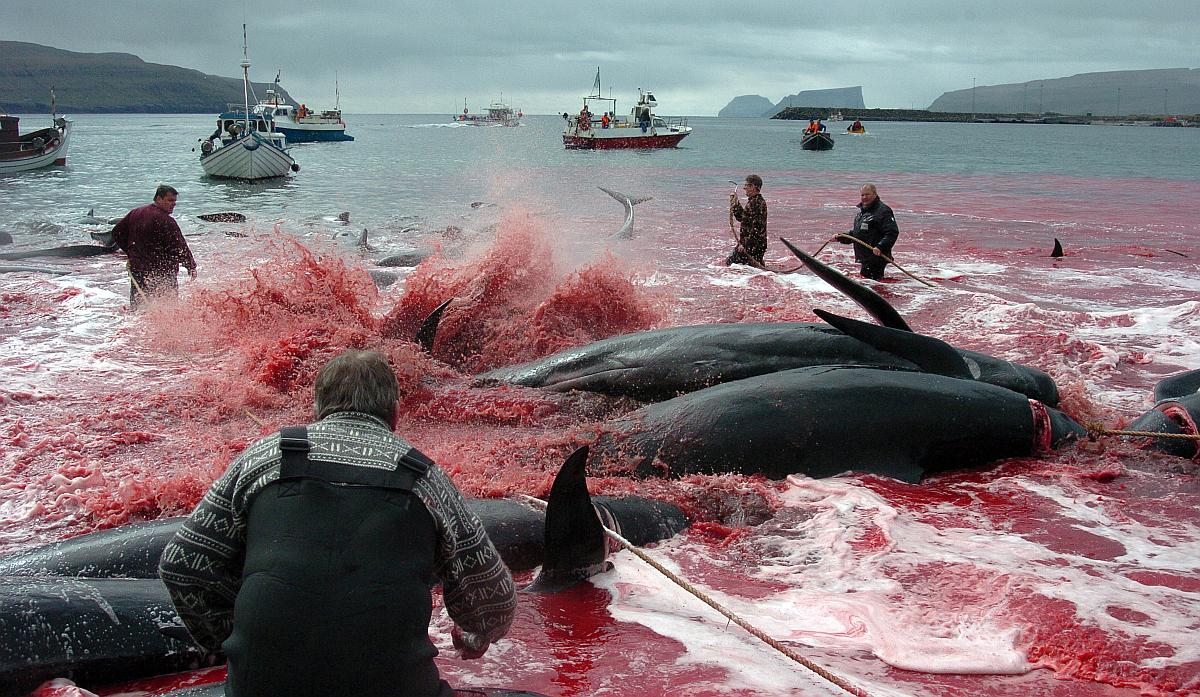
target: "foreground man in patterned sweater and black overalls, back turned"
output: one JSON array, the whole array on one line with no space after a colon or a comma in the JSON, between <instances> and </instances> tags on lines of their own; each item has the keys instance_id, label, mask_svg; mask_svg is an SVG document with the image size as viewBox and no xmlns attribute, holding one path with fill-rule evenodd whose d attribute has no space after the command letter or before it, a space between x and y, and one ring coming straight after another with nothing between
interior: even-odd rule
<instances>
[{"instance_id":1,"label":"foreground man in patterned sweater and black overalls, back turned","mask_svg":"<svg viewBox=\"0 0 1200 697\"><path fill-rule=\"evenodd\" d=\"M464 659L512 624L512 577L462 494L392 433L378 353L317 374L317 422L247 447L163 551L158 573L229 697L450 697L430 642L440 581Z\"/></svg>"}]
</instances>

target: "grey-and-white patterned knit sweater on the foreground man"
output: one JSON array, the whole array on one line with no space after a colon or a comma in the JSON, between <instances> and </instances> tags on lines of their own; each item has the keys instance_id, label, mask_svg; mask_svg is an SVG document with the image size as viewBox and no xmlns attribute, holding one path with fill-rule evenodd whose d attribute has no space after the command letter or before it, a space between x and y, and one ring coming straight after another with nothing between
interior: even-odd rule
<instances>
[{"instance_id":1,"label":"grey-and-white patterned knit sweater on the foreground man","mask_svg":"<svg viewBox=\"0 0 1200 697\"><path fill-rule=\"evenodd\" d=\"M412 449L383 421L342 411L308 426L312 459L392 469ZM233 606L241 584L246 524L254 495L280 476L280 434L247 447L212 483L204 499L167 545L158 575L175 609L203 647L221 648L233 631ZM442 468L433 465L413 493L438 531L438 577L446 612L463 631L487 641L512 624L512 576Z\"/></svg>"}]
</instances>

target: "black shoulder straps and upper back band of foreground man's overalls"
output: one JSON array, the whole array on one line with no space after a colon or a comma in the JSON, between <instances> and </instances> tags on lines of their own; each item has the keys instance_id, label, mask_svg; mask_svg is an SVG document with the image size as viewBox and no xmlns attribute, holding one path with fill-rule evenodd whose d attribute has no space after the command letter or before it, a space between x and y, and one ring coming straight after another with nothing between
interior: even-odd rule
<instances>
[{"instance_id":1,"label":"black shoulder straps and upper back band of foreground man's overalls","mask_svg":"<svg viewBox=\"0 0 1200 697\"><path fill-rule=\"evenodd\" d=\"M385 489L413 491L416 480L433 467L433 461L415 447L396 458L392 467L343 464L308 457L312 444L308 428L289 426L280 431L280 481L316 479L330 483L370 486Z\"/></svg>"}]
</instances>

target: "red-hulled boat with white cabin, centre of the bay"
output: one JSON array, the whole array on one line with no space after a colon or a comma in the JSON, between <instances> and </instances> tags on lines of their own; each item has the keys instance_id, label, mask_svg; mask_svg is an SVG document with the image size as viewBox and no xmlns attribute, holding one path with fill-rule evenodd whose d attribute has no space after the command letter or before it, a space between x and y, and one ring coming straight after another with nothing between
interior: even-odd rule
<instances>
[{"instance_id":1,"label":"red-hulled boat with white cabin, centre of the bay","mask_svg":"<svg viewBox=\"0 0 1200 697\"><path fill-rule=\"evenodd\" d=\"M599 116L593 106L600 108ZM638 88L637 103L629 116L618 116L617 100L600 96L600 68L596 68L596 79L592 94L583 97L583 108L575 116L563 114L566 121L563 145L572 150L674 148L691 133L691 126L684 118L654 114L653 108L658 106L652 92Z\"/></svg>"}]
</instances>

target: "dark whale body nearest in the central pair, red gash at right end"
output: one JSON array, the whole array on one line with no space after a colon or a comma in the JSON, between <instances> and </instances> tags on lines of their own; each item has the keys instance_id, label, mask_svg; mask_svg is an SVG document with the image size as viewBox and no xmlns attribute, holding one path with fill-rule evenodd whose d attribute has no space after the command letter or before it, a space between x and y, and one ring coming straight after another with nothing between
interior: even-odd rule
<instances>
[{"instance_id":1,"label":"dark whale body nearest in the central pair, red gash at right end","mask_svg":"<svg viewBox=\"0 0 1200 697\"><path fill-rule=\"evenodd\" d=\"M601 474L782 479L860 471L918 482L1084 434L1067 415L996 385L817 366L649 404L600 425L592 450Z\"/></svg>"}]
</instances>

